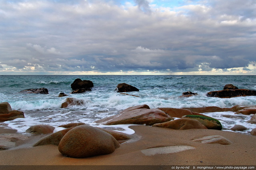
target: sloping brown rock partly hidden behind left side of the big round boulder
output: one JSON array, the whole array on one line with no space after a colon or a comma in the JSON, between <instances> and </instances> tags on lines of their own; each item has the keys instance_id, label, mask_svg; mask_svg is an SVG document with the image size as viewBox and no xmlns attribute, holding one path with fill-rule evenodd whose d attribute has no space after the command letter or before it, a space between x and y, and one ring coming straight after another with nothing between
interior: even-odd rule
<instances>
[{"instance_id":1,"label":"sloping brown rock partly hidden behind left side of the big round boulder","mask_svg":"<svg viewBox=\"0 0 256 170\"><path fill-rule=\"evenodd\" d=\"M40 139L38 142L36 142L33 146L40 146L40 145L59 145L60 140L63 138L63 136L72 128L60 130L58 132L55 132L53 134L50 134L42 139Z\"/></svg>"}]
</instances>

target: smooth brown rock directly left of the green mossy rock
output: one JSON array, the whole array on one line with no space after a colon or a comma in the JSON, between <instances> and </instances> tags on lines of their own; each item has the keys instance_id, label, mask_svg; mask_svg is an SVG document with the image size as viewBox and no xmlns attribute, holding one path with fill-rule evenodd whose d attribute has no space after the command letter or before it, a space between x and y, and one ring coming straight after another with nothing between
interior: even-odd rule
<instances>
[{"instance_id":1,"label":"smooth brown rock directly left of the green mossy rock","mask_svg":"<svg viewBox=\"0 0 256 170\"><path fill-rule=\"evenodd\" d=\"M171 128L176 130L186 130L186 129L207 129L198 120L193 119L177 119L165 123L157 123L153 125L154 127Z\"/></svg>"}]
</instances>

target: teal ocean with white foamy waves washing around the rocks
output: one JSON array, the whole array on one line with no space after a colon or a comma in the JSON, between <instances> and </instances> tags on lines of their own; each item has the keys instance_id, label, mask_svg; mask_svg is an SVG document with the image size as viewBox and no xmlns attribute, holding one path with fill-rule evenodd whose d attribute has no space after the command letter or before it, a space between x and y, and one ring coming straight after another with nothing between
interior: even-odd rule
<instances>
[{"instance_id":1,"label":"teal ocean with white foamy waves washing around the rocks","mask_svg":"<svg viewBox=\"0 0 256 170\"><path fill-rule=\"evenodd\" d=\"M72 82L91 80L94 84L92 91L82 94L70 94ZM119 83L135 86L140 91L127 92L139 97L122 95L114 91ZM147 104L150 108L193 108L218 106L230 108L235 105L255 106L256 96L236 98L207 97L206 93L223 90L226 84L233 84L241 89L256 90L256 76L135 76L135 75L0 75L0 102L8 102L12 110L24 112L25 118L0 122L0 126L26 133L32 125L48 124L54 127L62 124L84 122L91 126L110 127L112 130L134 133L129 125L104 126L94 121L118 114L120 111L136 105ZM47 88L49 94L26 94L21 90L30 88ZM196 96L180 97L183 92L195 92ZM60 92L68 94L58 97ZM60 108L67 97L84 100L80 106ZM249 124L252 115L235 115L234 112L205 113L218 119L223 130L231 131L235 124L246 126L249 132L256 128L256 124ZM234 116L226 116L234 115ZM229 118L228 118L229 117ZM56 131L61 128L56 128Z\"/></svg>"}]
</instances>

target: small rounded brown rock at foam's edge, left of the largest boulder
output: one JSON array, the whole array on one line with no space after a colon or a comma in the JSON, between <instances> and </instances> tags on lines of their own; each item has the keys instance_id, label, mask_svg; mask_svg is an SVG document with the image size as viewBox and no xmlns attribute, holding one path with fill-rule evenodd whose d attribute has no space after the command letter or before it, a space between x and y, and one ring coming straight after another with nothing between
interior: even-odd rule
<instances>
[{"instance_id":1,"label":"small rounded brown rock at foam's edge, left of the largest boulder","mask_svg":"<svg viewBox=\"0 0 256 170\"><path fill-rule=\"evenodd\" d=\"M54 127L46 124L38 124L31 126L26 130L27 133L31 134L49 134L54 131Z\"/></svg>"}]
</instances>

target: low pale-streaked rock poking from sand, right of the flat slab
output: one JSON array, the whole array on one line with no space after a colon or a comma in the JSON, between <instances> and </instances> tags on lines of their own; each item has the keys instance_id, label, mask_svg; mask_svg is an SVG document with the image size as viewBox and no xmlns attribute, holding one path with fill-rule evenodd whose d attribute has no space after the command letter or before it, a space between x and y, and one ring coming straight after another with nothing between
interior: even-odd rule
<instances>
[{"instance_id":1,"label":"low pale-streaked rock poking from sand, right of the flat slab","mask_svg":"<svg viewBox=\"0 0 256 170\"><path fill-rule=\"evenodd\" d=\"M219 135L205 136L203 138L194 139L193 141L200 141L203 144L221 144L221 145L232 144L230 140Z\"/></svg>"}]
</instances>

